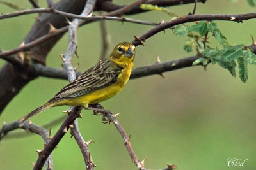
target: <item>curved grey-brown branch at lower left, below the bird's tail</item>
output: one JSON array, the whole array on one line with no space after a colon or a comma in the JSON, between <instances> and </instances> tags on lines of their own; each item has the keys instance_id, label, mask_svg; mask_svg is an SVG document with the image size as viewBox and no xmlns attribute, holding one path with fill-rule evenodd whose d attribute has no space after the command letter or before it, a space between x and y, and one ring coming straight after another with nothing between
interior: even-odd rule
<instances>
[{"instance_id":1,"label":"curved grey-brown branch at lower left, below the bird's tail","mask_svg":"<svg viewBox=\"0 0 256 170\"><path fill-rule=\"evenodd\" d=\"M49 143L49 141L51 140L51 138L49 136L49 132L46 131L46 129L44 129L44 127L40 127L40 126L32 124L32 122L28 122L28 121L20 124L20 122L17 120L15 122L11 122L11 123L3 125L3 127L0 129L0 141L1 141L1 139L3 139L4 136L6 136L6 134L8 134L8 132L11 132L11 131L14 131L14 130L20 129L20 128L22 128L26 131L29 131L31 133L38 134L39 136L42 137L42 139L44 139L45 144ZM38 153L40 153L39 150L38 150ZM47 170L53 169L52 154L50 154L48 159L45 161L45 167L47 167Z\"/></svg>"}]
</instances>

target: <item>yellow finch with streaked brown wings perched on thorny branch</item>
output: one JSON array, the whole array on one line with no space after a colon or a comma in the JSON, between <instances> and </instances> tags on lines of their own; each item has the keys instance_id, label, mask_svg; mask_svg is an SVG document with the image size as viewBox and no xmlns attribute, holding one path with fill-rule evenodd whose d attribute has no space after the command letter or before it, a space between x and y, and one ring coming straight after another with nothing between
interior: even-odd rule
<instances>
[{"instance_id":1,"label":"yellow finch with streaked brown wings perched on thorny branch","mask_svg":"<svg viewBox=\"0 0 256 170\"><path fill-rule=\"evenodd\" d=\"M87 108L88 104L99 103L115 96L129 80L134 54L135 46L132 43L116 45L108 59L85 71L47 103L20 118L20 121L24 122L53 106L72 105Z\"/></svg>"}]
</instances>

